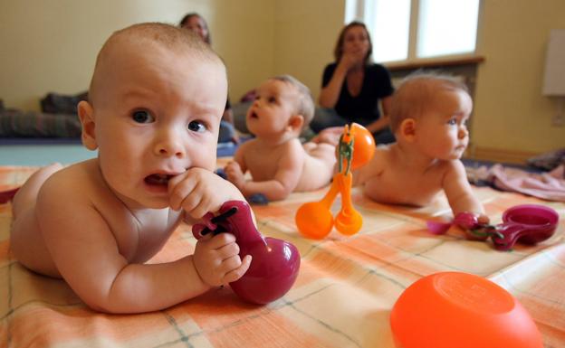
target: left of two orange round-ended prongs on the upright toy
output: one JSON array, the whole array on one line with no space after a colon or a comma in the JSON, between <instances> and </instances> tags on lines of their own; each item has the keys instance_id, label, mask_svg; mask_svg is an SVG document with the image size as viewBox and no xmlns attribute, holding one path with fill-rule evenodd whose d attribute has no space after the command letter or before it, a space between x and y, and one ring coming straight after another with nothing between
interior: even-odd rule
<instances>
[{"instance_id":1,"label":"left of two orange round-ended prongs on the upright toy","mask_svg":"<svg viewBox=\"0 0 565 348\"><path fill-rule=\"evenodd\" d=\"M339 183L335 174L330 185L330 191L319 202L307 202L296 212L294 221L304 237L321 240L333 228L333 216L330 207L335 197L340 193Z\"/></svg>"}]
</instances>

